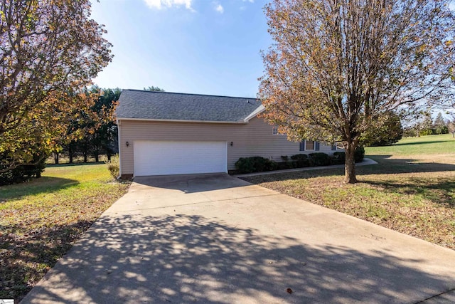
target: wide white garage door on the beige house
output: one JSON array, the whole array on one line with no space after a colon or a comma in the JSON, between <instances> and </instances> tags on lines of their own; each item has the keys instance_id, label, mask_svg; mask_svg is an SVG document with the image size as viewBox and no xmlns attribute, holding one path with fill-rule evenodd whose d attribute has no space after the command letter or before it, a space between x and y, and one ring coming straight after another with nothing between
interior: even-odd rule
<instances>
[{"instance_id":1,"label":"wide white garage door on the beige house","mask_svg":"<svg viewBox=\"0 0 455 304\"><path fill-rule=\"evenodd\" d=\"M134 141L134 176L228 172L226 142Z\"/></svg>"}]
</instances>

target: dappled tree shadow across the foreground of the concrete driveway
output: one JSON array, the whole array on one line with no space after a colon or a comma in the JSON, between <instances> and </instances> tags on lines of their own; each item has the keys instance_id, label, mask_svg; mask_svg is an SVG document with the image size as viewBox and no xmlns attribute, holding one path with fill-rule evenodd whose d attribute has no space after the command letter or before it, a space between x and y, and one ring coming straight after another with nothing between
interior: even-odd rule
<instances>
[{"instance_id":1,"label":"dappled tree shadow across the foreground of the concrete driveway","mask_svg":"<svg viewBox=\"0 0 455 304\"><path fill-rule=\"evenodd\" d=\"M106 216L22 303L416 303L454 287L419 263L204 216Z\"/></svg>"}]
</instances>

